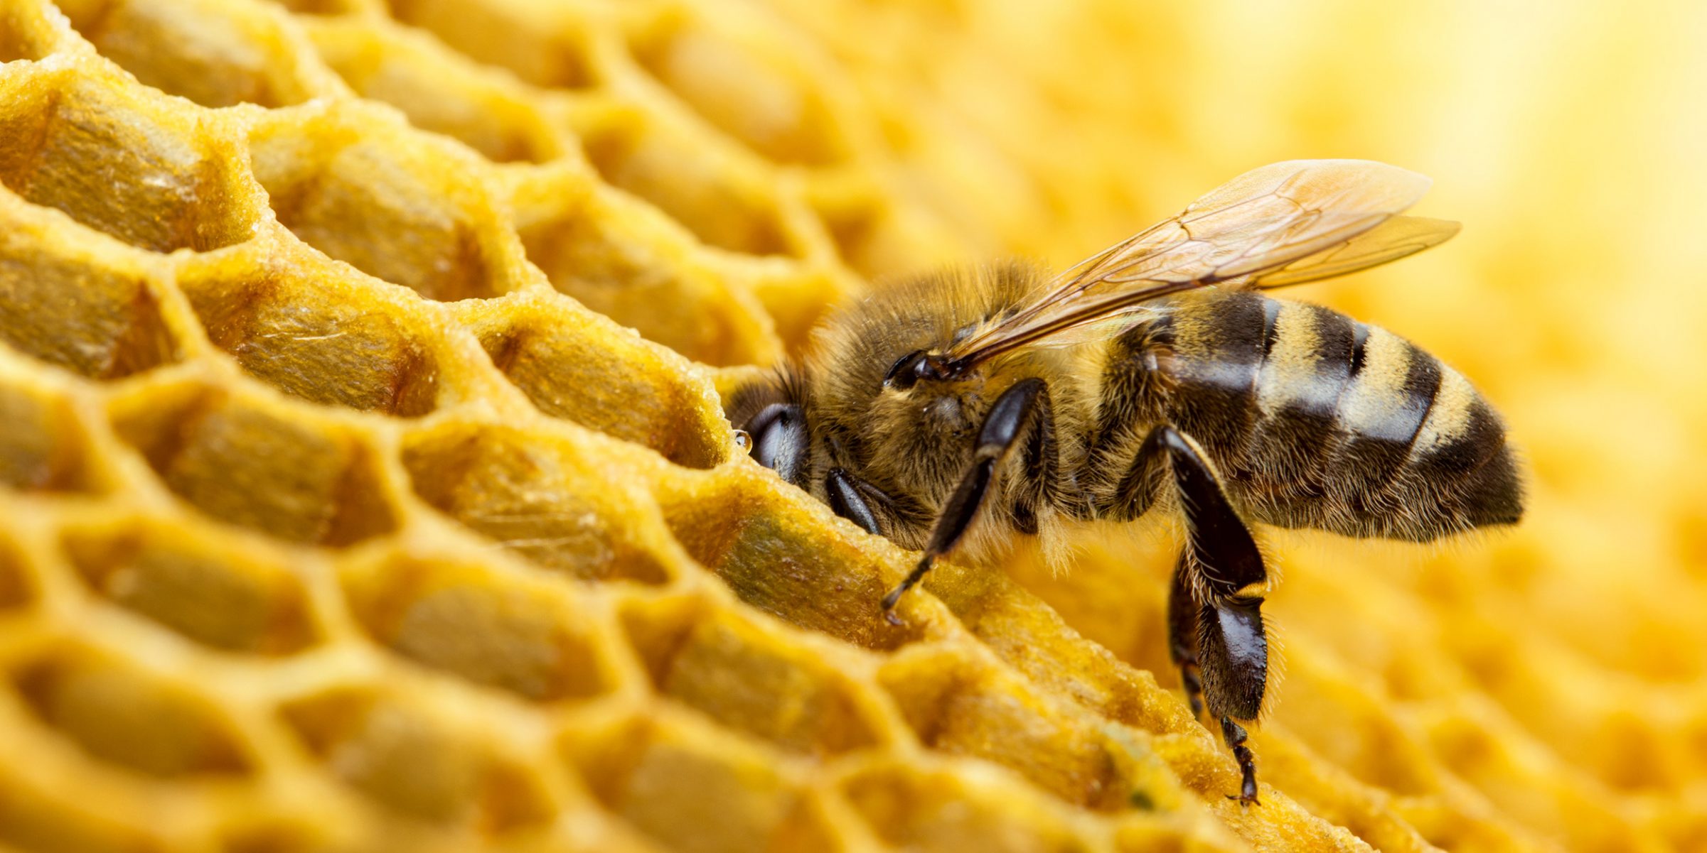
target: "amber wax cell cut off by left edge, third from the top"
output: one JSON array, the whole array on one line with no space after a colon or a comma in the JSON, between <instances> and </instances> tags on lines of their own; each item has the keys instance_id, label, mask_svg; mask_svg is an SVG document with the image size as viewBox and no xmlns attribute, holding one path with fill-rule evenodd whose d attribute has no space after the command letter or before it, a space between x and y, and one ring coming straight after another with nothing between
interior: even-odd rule
<instances>
[{"instance_id":1,"label":"amber wax cell cut off by left edge, third from the top","mask_svg":"<svg viewBox=\"0 0 1707 853\"><path fill-rule=\"evenodd\" d=\"M159 273L0 198L0 339L90 379L178 360Z\"/></svg>"}]
</instances>

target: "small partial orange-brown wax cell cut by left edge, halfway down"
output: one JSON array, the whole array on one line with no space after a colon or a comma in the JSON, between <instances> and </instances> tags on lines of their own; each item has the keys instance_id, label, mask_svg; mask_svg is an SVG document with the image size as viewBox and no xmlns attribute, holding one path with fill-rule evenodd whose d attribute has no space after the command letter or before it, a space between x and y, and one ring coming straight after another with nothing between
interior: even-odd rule
<instances>
[{"instance_id":1,"label":"small partial orange-brown wax cell cut by left edge, halfway down","mask_svg":"<svg viewBox=\"0 0 1707 853\"><path fill-rule=\"evenodd\" d=\"M90 491L90 449L72 404L0 379L0 485L26 491Z\"/></svg>"}]
</instances>

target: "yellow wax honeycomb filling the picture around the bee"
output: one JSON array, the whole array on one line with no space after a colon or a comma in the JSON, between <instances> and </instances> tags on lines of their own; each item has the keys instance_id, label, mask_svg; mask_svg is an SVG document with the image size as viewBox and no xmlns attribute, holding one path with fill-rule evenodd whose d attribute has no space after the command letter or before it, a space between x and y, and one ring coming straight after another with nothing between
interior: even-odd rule
<instances>
[{"instance_id":1,"label":"yellow wax honeycomb filling the picture around the bee","mask_svg":"<svg viewBox=\"0 0 1707 853\"><path fill-rule=\"evenodd\" d=\"M0 848L1707 850L1707 17L1560 9L0 0ZM1270 536L1246 809L1166 524L891 626L908 554L719 394L1299 155L1461 176L1302 295L1477 379L1535 500Z\"/></svg>"}]
</instances>

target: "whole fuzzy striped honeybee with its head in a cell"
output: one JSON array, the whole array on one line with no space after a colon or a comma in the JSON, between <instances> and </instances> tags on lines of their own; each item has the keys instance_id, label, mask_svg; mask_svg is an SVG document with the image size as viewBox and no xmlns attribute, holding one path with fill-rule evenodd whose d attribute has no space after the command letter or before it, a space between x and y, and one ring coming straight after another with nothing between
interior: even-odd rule
<instances>
[{"instance_id":1,"label":"whole fuzzy striped honeybee with its head in a cell","mask_svg":"<svg viewBox=\"0 0 1707 853\"><path fill-rule=\"evenodd\" d=\"M1265 290L1429 249L1458 223L1400 215L1429 179L1369 160L1246 172L1048 276L1019 263L886 288L814 331L804 360L739 387L765 467L865 531L946 554L1075 522L1185 519L1169 648L1256 804L1241 723L1268 676L1251 524L1430 541L1516 524L1499 415L1432 355Z\"/></svg>"}]
</instances>

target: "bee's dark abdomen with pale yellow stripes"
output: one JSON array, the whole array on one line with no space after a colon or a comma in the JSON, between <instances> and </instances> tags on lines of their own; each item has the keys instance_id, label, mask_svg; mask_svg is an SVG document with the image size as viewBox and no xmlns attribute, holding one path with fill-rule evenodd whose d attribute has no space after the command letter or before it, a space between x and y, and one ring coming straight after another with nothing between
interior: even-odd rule
<instances>
[{"instance_id":1,"label":"bee's dark abdomen with pale yellow stripes","mask_svg":"<svg viewBox=\"0 0 1707 853\"><path fill-rule=\"evenodd\" d=\"M1403 338L1258 293L1183 300L1152 336L1168 418L1256 520L1432 539L1521 515L1499 416Z\"/></svg>"}]
</instances>

